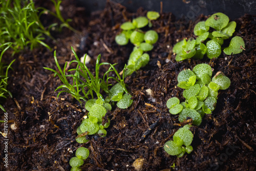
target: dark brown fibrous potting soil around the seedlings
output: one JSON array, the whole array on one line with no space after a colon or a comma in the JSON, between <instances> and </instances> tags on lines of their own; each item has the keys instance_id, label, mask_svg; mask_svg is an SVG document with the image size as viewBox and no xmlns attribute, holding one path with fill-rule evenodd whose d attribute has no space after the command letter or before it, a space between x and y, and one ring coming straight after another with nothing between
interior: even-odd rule
<instances>
[{"instance_id":1,"label":"dark brown fibrous potting soil around the seedlings","mask_svg":"<svg viewBox=\"0 0 256 171\"><path fill-rule=\"evenodd\" d=\"M36 3L54 10L50 3ZM63 68L66 61L74 59L70 49L73 46L78 56L88 53L92 57L88 65L91 71L101 54L101 62L118 62L120 72L133 45L118 46L115 35L120 32L120 24L145 16L146 11L129 13L120 5L107 3L103 11L86 16L86 8L76 7L73 1L63 1L62 7L63 17L72 18L71 25L79 33L63 28L61 33L53 32L56 40L46 40L56 50L60 66ZM150 52L151 60L125 79L133 95L132 106L126 110L114 107L106 114L111 119L106 137L88 136L90 141L86 144L75 141L76 129L88 114L83 112L84 103L80 106L69 94L61 94L57 99L58 91L54 90L61 81L42 68L57 70L53 52L39 47L16 54L9 79L13 99L8 98L4 104L9 121L14 121L17 127L11 130L9 123L7 170L70 170L69 160L80 146L90 150L82 170L135 170L132 165L138 158L143 163L142 170L255 170L255 16L244 15L235 20L237 28L233 36L241 36L245 41L246 50L242 53L176 62L173 46L183 38L193 37L195 24L206 18L200 15L195 22L187 22L176 20L172 13L162 13L152 22L151 29L158 32L159 40ZM53 22L58 20L42 16L42 23ZM10 54L5 53L7 62L12 60ZM230 78L231 85L220 91L215 111L206 115L200 126L193 126L194 151L177 158L163 150L164 143L180 128L178 116L171 115L165 104L170 97L184 101L183 90L176 87L177 75L198 63L208 63L214 74L222 71ZM102 71L106 69L102 67ZM154 128L148 131L152 124ZM2 123L0 130L3 127ZM0 142L4 149L4 137L0 137ZM1 170L6 170L4 157L2 150Z\"/></svg>"}]
</instances>

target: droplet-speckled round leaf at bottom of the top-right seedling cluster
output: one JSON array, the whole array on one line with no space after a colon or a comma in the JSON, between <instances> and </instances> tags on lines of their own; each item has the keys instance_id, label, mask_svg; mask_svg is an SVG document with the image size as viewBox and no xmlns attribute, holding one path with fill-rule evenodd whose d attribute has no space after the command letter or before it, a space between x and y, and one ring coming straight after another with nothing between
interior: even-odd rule
<instances>
[{"instance_id":1,"label":"droplet-speckled round leaf at bottom of the top-right seedling cluster","mask_svg":"<svg viewBox=\"0 0 256 171\"><path fill-rule=\"evenodd\" d=\"M214 40L209 40L206 43L206 48L207 48L207 56L208 58L217 58L221 54L221 46L218 44L218 42Z\"/></svg>"}]
</instances>

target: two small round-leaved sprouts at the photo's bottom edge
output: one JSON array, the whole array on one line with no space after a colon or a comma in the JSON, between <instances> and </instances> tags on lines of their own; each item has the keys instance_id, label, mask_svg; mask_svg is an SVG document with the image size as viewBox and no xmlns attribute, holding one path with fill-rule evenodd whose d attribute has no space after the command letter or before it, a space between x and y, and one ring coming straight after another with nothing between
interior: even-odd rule
<instances>
[{"instance_id":1,"label":"two small round-leaved sprouts at the photo's bottom edge","mask_svg":"<svg viewBox=\"0 0 256 171\"><path fill-rule=\"evenodd\" d=\"M86 147L79 147L76 150L76 157L72 157L69 161L71 165L71 171L80 171L80 166L83 165L83 160L86 160L89 156L89 149Z\"/></svg>"}]
</instances>

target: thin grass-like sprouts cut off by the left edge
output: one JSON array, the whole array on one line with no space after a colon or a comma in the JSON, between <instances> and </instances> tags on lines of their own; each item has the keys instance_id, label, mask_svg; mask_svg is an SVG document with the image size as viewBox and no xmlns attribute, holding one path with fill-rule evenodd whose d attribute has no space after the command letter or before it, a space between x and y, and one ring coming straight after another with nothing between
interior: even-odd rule
<instances>
[{"instance_id":1,"label":"thin grass-like sprouts cut off by the left edge","mask_svg":"<svg viewBox=\"0 0 256 171\"><path fill-rule=\"evenodd\" d=\"M8 96L12 97L11 92L7 89L8 86L8 71L12 65L12 63L15 61L12 60L9 65L5 65L5 63L2 62L2 57L5 51L12 46L11 42L7 42L0 46L0 49L4 48L0 55L0 109L2 109L4 112L6 110L3 107L4 99L6 99Z\"/></svg>"}]
</instances>

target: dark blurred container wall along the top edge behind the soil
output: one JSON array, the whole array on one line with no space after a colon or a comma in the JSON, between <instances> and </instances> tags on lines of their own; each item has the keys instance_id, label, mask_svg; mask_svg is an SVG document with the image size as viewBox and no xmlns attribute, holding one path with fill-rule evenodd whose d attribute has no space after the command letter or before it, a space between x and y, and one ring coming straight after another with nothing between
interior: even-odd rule
<instances>
[{"instance_id":1,"label":"dark blurred container wall along the top edge behind the soil","mask_svg":"<svg viewBox=\"0 0 256 171\"><path fill-rule=\"evenodd\" d=\"M130 12L136 12L139 7L160 12L160 0L111 1L120 3ZM177 18L184 16L190 20L199 14L211 15L216 12L225 13L231 19L239 18L245 13L256 15L255 0L162 0L162 3L163 12L172 12ZM88 13L102 10L105 4L106 0L78 0L78 5L86 7Z\"/></svg>"}]
</instances>

